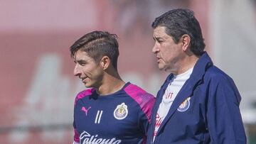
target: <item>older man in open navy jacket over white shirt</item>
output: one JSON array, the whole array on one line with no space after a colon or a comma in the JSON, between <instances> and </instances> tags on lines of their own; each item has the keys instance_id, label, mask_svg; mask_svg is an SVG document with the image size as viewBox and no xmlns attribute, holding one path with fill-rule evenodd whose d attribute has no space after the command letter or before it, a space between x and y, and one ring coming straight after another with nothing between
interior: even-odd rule
<instances>
[{"instance_id":1,"label":"older man in open navy jacket over white shirt","mask_svg":"<svg viewBox=\"0 0 256 144\"><path fill-rule=\"evenodd\" d=\"M147 143L246 143L233 79L213 65L188 9L152 23L159 70L169 72L152 111Z\"/></svg>"}]
</instances>

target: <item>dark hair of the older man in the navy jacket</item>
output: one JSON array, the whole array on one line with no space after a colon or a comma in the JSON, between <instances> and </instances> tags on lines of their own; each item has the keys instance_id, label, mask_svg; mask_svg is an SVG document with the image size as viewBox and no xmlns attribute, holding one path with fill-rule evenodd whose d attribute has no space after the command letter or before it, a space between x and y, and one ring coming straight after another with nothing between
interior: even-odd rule
<instances>
[{"instance_id":1,"label":"dark hair of the older man in the navy jacket","mask_svg":"<svg viewBox=\"0 0 256 144\"><path fill-rule=\"evenodd\" d=\"M203 42L203 35L200 24L193 11L189 9L173 9L155 19L152 28L164 26L166 34L170 35L175 43L178 43L181 36L187 34L191 38L191 51L195 55L202 55L206 47Z\"/></svg>"}]
</instances>

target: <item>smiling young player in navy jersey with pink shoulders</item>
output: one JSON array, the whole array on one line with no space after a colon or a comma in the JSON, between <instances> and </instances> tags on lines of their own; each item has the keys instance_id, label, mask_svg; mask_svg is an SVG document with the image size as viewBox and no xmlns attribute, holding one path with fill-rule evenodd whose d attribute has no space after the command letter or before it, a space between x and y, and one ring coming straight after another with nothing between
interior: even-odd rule
<instances>
[{"instance_id":1,"label":"smiling young player in navy jersey with pink shoulders","mask_svg":"<svg viewBox=\"0 0 256 144\"><path fill-rule=\"evenodd\" d=\"M74 143L145 143L154 96L117 72L117 35L93 31L71 47L74 74L86 89L75 98Z\"/></svg>"}]
</instances>

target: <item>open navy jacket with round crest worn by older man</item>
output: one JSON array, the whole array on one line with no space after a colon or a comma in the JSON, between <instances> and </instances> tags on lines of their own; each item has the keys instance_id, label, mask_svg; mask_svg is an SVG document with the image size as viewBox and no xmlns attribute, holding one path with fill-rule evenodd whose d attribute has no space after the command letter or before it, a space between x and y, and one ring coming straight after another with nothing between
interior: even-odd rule
<instances>
[{"instance_id":1,"label":"open navy jacket with round crest worn by older man","mask_svg":"<svg viewBox=\"0 0 256 144\"><path fill-rule=\"evenodd\" d=\"M156 96L148 144L153 143L156 113L172 77L170 74L166 78ZM233 79L215 67L204 52L161 123L154 143L246 143L240 101Z\"/></svg>"}]
</instances>

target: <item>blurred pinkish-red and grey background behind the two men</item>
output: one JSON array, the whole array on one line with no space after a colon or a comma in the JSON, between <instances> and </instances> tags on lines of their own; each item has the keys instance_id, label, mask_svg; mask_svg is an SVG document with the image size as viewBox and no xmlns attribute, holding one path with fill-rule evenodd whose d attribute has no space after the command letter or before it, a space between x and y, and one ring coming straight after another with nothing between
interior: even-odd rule
<instances>
[{"instance_id":1,"label":"blurred pinkish-red and grey background behind the two men","mask_svg":"<svg viewBox=\"0 0 256 144\"><path fill-rule=\"evenodd\" d=\"M242 95L248 143L256 143L255 0L0 0L0 143L73 143L75 95L69 47L90 31L119 36L119 73L156 95L167 75L151 52L154 18L188 8L206 51Z\"/></svg>"}]
</instances>

